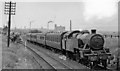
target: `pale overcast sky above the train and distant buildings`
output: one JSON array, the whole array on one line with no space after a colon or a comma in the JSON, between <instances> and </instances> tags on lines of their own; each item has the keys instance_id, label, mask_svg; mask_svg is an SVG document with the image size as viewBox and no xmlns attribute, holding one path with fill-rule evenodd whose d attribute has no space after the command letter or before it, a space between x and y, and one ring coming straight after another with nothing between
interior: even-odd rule
<instances>
[{"instance_id":1,"label":"pale overcast sky above the train and distant buildings","mask_svg":"<svg viewBox=\"0 0 120 71\"><path fill-rule=\"evenodd\" d=\"M34 0L33 0L34 1ZM4 2L0 2L0 22L7 24L8 16L4 15ZM2 18L2 19L1 19ZM118 30L117 0L80 0L80 2L16 2L16 15L12 16L14 28L49 28L54 24L65 26L69 30L72 20L73 29L96 28L102 31Z\"/></svg>"}]
</instances>

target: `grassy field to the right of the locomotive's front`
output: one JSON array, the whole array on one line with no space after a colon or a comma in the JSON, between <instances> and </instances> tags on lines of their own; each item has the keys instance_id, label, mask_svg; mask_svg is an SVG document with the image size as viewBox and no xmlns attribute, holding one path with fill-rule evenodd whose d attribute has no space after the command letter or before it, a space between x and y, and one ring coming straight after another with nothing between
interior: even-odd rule
<instances>
[{"instance_id":1,"label":"grassy field to the right of the locomotive's front","mask_svg":"<svg viewBox=\"0 0 120 71\"><path fill-rule=\"evenodd\" d=\"M115 56L116 58L119 57L120 58L120 44L119 44L120 38L118 37L107 37L105 38L105 48L110 48L110 52L112 53L113 56ZM119 55L118 55L119 54ZM117 62L115 58L115 62ZM114 65L115 67L117 67L117 65ZM120 69L120 59L119 59L119 69Z\"/></svg>"}]
</instances>

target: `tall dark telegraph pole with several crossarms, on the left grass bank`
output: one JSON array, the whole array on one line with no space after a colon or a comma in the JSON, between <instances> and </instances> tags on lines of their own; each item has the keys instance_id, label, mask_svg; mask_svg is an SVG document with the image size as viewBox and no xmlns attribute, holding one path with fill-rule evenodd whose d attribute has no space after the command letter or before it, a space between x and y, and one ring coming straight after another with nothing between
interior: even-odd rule
<instances>
[{"instance_id":1,"label":"tall dark telegraph pole with several crossarms, on the left grass bank","mask_svg":"<svg viewBox=\"0 0 120 71\"><path fill-rule=\"evenodd\" d=\"M11 15L15 15L15 8L16 3L10 2L5 2L5 12L4 14L9 15L9 20L8 20L8 42L7 46L9 47L10 45L10 27L11 27Z\"/></svg>"}]
</instances>

